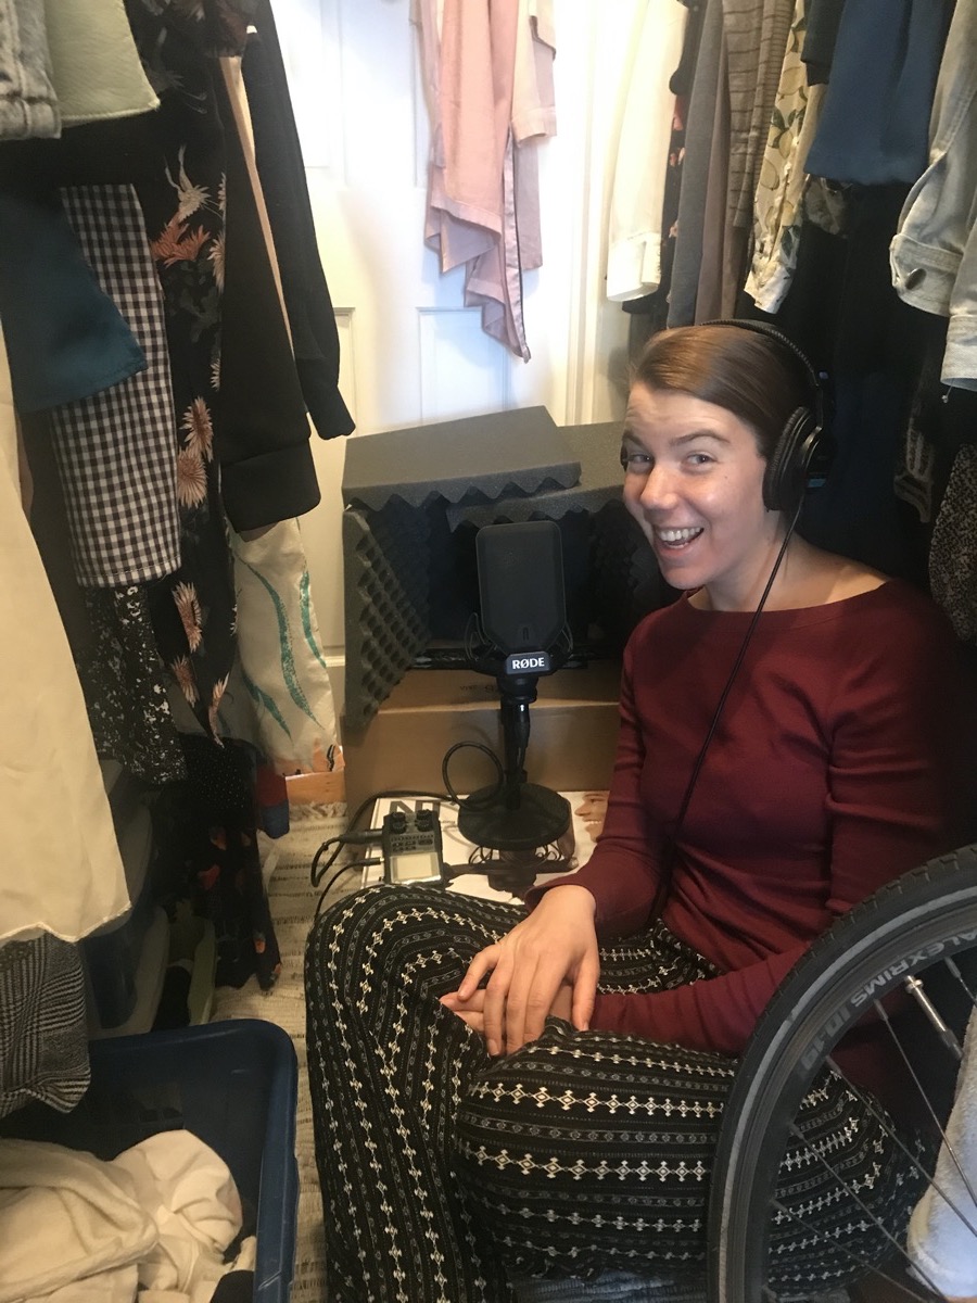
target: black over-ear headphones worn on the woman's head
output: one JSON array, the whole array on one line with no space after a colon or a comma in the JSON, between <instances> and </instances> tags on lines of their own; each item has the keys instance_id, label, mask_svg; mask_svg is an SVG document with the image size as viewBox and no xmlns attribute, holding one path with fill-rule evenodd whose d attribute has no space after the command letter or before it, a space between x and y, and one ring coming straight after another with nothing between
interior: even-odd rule
<instances>
[{"instance_id":1,"label":"black over-ear headphones worn on the woman's head","mask_svg":"<svg viewBox=\"0 0 977 1303\"><path fill-rule=\"evenodd\" d=\"M767 322L736 318L732 321L702 322L703 326L736 326L756 335L766 335L786 348L800 364L810 382L810 405L795 408L787 418L763 473L763 506L769 511L783 511L788 516L800 507L809 489L819 489L831 468L834 452L825 431L825 387L821 377L797 348L776 327Z\"/></svg>"}]
</instances>

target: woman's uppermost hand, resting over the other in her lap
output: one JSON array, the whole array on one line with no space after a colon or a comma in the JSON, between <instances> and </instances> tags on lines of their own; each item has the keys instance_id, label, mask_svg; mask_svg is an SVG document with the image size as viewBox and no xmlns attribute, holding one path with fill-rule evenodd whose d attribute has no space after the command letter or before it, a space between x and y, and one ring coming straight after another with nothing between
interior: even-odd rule
<instances>
[{"instance_id":1,"label":"woman's uppermost hand, resting over the other in her lap","mask_svg":"<svg viewBox=\"0 0 977 1303\"><path fill-rule=\"evenodd\" d=\"M455 998L464 1005L491 975L482 1006L490 1054L512 1054L541 1036L554 1005L565 1005L565 994L558 1002L563 986L572 990L571 1022L578 1031L588 1028L601 973L595 911L586 887L552 887L528 919L478 951ZM446 1003L451 1007L451 997Z\"/></svg>"}]
</instances>

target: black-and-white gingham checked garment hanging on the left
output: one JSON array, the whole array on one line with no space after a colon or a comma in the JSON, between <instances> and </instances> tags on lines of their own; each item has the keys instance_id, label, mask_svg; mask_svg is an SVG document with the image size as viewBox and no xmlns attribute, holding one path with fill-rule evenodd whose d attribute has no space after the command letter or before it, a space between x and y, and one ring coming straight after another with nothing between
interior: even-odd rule
<instances>
[{"instance_id":1,"label":"black-and-white gingham checked garment hanging on the left","mask_svg":"<svg viewBox=\"0 0 977 1303\"><path fill-rule=\"evenodd\" d=\"M135 192L61 192L99 284L146 354L146 370L51 410L72 556L83 588L142 584L180 564L177 431L163 296Z\"/></svg>"}]
</instances>

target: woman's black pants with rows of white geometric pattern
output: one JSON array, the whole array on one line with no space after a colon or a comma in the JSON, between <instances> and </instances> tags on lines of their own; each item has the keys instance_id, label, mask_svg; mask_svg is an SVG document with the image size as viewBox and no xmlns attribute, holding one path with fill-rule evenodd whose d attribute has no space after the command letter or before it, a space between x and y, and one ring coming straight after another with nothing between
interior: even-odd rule
<instances>
[{"instance_id":1,"label":"woman's black pants with rows of white geometric pattern","mask_svg":"<svg viewBox=\"0 0 977 1303\"><path fill-rule=\"evenodd\" d=\"M328 909L306 951L309 1074L331 1299L502 1303L525 1277L701 1274L711 1154L735 1061L550 1019L490 1059L438 997L522 911L376 886ZM604 947L602 990L660 990L714 969L663 925ZM873 1113L823 1074L782 1165L771 1283L817 1294L851 1274L917 1195ZM831 1153L848 1192L818 1158ZM875 1252L875 1256L879 1256ZM666 1287L664 1293L668 1293Z\"/></svg>"}]
</instances>

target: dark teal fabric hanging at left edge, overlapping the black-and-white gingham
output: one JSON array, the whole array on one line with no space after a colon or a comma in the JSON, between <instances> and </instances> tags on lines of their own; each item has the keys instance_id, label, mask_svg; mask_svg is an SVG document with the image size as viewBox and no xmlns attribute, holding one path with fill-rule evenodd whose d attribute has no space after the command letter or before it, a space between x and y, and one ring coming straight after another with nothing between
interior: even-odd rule
<instances>
[{"instance_id":1,"label":"dark teal fabric hanging at left edge, overlapping the black-and-white gingham","mask_svg":"<svg viewBox=\"0 0 977 1303\"><path fill-rule=\"evenodd\" d=\"M0 190L0 318L23 413L89 397L146 369L56 189Z\"/></svg>"}]
</instances>

